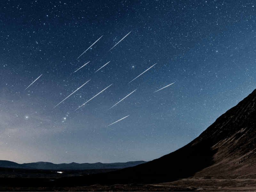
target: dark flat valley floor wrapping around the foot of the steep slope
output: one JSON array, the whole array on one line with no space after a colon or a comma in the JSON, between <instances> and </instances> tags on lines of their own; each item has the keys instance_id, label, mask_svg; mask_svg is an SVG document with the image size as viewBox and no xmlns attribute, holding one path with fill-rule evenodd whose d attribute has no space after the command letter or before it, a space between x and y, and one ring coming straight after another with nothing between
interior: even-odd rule
<instances>
[{"instance_id":1,"label":"dark flat valley floor wrapping around the foot of the steep slope","mask_svg":"<svg viewBox=\"0 0 256 192\"><path fill-rule=\"evenodd\" d=\"M95 184L90 186L67 186L65 182L63 186L52 184L55 179L61 177L83 176L115 170L118 169L36 170L0 167L0 191L256 191L256 174L232 177L189 177L155 184Z\"/></svg>"}]
</instances>

